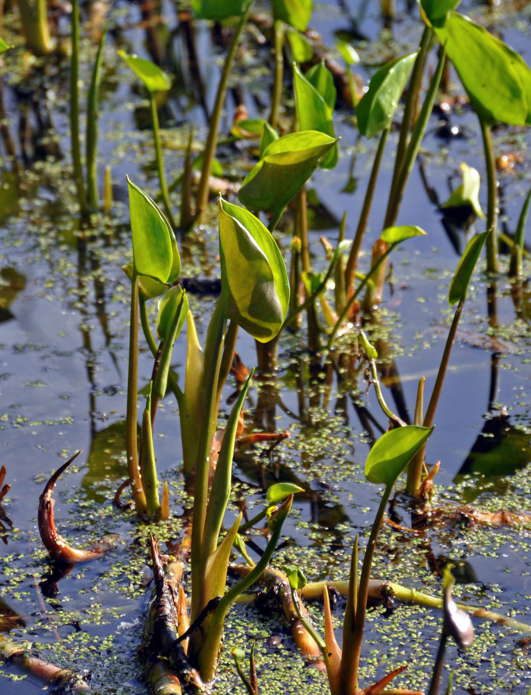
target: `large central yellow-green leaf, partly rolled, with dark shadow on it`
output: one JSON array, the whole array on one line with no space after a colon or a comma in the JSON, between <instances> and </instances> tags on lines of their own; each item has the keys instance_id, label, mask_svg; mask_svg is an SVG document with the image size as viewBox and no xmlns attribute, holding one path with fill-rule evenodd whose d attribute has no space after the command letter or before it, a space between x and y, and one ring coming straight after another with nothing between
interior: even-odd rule
<instances>
[{"instance_id":1,"label":"large central yellow-green leaf, partly rolled, with dark shadow on it","mask_svg":"<svg viewBox=\"0 0 531 695\"><path fill-rule=\"evenodd\" d=\"M268 229L252 213L219 199L221 286L227 318L263 343L286 318L289 281Z\"/></svg>"}]
</instances>

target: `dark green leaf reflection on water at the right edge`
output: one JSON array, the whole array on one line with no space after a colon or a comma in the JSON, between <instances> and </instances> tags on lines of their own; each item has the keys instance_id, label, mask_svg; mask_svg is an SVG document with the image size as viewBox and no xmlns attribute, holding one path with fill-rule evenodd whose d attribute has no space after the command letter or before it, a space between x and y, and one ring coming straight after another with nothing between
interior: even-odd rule
<instances>
[{"instance_id":1,"label":"dark green leaf reflection on water at the right edge","mask_svg":"<svg viewBox=\"0 0 531 695\"><path fill-rule=\"evenodd\" d=\"M485 421L457 475L481 473L486 477L513 475L530 461L531 436L500 414Z\"/></svg>"}]
</instances>

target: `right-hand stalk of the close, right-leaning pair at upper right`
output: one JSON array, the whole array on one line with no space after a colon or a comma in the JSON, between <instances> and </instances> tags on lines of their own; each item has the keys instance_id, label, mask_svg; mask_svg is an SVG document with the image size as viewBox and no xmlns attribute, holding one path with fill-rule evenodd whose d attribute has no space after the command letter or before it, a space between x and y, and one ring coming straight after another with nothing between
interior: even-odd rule
<instances>
[{"instance_id":1,"label":"right-hand stalk of the close, right-leaning pair at upper right","mask_svg":"<svg viewBox=\"0 0 531 695\"><path fill-rule=\"evenodd\" d=\"M427 90L423 106L420 110L420 115L418 116L418 120L414 126L413 133L411 133L411 139L409 140L405 154L403 157L401 157L402 163L395 180L395 186L391 186L391 193L389 195L389 203L384 221L384 229L387 227L393 227L393 224L395 224L400 203L402 202L402 196L404 195L407 180L409 179L409 174L413 169L418 150L420 149L420 143L422 142L427 123L430 120L430 115L433 111L433 105L437 90L439 89L439 83L441 82L445 60L446 50L441 47L439 51L439 62L437 63L435 74L432 77L430 88Z\"/></svg>"}]
</instances>

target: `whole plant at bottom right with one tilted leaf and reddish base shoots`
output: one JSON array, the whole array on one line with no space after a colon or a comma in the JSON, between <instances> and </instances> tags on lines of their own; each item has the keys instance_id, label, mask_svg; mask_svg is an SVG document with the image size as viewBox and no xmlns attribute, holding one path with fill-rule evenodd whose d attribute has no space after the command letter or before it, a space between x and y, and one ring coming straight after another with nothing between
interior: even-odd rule
<instances>
[{"instance_id":1,"label":"whole plant at bottom right with one tilted leaf and reddish base shoots","mask_svg":"<svg viewBox=\"0 0 531 695\"><path fill-rule=\"evenodd\" d=\"M430 434L432 434L432 429L427 427L418 427L416 425L398 427L398 429L383 434L369 452L365 464L365 477L369 482L383 484L385 489L370 531L359 579L357 574L357 539L354 543L352 562L350 564L349 591L345 607L345 619L343 621L343 647L340 648L338 646L334 636L332 613L326 588L323 592L325 600L324 640L318 635L313 626L304 620L304 617L299 612L299 617L304 627L309 630L322 652L332 695L377 695L383 691L392 678L405 669L405 667L395 669L374 685L366 689L359 689L359 658L365 626L370 570L373 564L377 537L382 527L387 502L398 476L404 471L416 452L425 444ZM306 584L306 578L296 568L286 569L286 575L293 593L297 589L302 589ZM297 606L295 594L293 598L295 606ZM403 692L407 693L408 691Z\"/></svg>"}]
</instances>

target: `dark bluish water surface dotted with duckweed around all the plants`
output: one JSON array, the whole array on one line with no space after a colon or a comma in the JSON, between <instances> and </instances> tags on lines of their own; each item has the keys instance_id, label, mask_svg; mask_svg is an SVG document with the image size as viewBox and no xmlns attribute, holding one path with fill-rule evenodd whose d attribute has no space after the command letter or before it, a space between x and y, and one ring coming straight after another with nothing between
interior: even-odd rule
<instances>
[{"instance_id":1,"label":"dark bluish water surface dotted with duckweed around all the plants","mask_svg":"<svg viewBox=\"0 0 531 695\"><path fill-rule=\"evenodd\" d=\"M348 13L339 5L322 3L316 8L312 24L328 44L333 43L334 31L356 28L359 35L373 42L363 43L358 36L356 46L362 60L374 64L378 56L382 60L382 55L390 57L393 51L399 54L411 50L418 41L416 9L407 13L402 3L397 4L398 16L389 30L382 27L378 3L351 2ZM174 24L172 10L165 10L169 24ZM503 22L496 10L489 20L479 3L466 3L465 10L479 13L489 24L496 22L503 38L528 63L531 61L529 10L525 6L518 8L510 3ZM357 22L352 22L353 18ZM110 218L98 221L96 238L89 239L85 252L78 252L76 202L68 159L28 166L19 195L14 193L10 166L5 161L0 227L0 463L7 469L6 482L12 485L3 505L6 518L0 518L5 527L0 545L0 598L24 621L24 626L10 632L10 637L35 644L35 649L51 662L90 672L91 684L99 692L131 695L146 692L138 680L136 648L149 598L144 580L149 568L142 568L147 562L145 530L138 527L131 514L117 512L111 505L113 493L125 477L121 423L125 414L129 287L120 268L131 252L124 174L153 193L157 183L149 131L137 129L142 116L138 107L143 102L126 68L118 62L115 49L125 41L129 49L145 54L147 35L135 26L138 21L137 6L121 6L116 22L126 29L111 33L106 52L100 164L111 163L113 167L116 202ZM180 70L181 38L173 38L170 45L173 52L168 54L168 70ZM198 28L197 46L210 106L218 60L206 26ZM172 56L177 56L176 63L171 62ZM260 67L266 60L264 56L254 56L253 67ZM366 65L361 65L360 72L366 77L371 74ZM20 96L16 96L18 77L10 66L9 54L3 74L4 101L15 137ZM186 75L184 68L182 74ZM86 82L88 73L83 79ZM51 110L58 147L67 153L67 79L56 77L49 84L44 103ZM260 99L254 97L268 95L268 83L263 84L243 82L250 115L260 113ZM224 133L229 130L233 111L234 102L229 99L222 124ZM179 125L188 121L204 124L204 111L197 105L193 85L183 79L183 86L172 95L164 113L172 125L165 135L165 164L171 181L182 165L183 151L178 148L186 136ZM459 183L461 161L476 166L482 175L484 172L480 133L473 114L464 111L453 115L452 125L459 128L462 137L443 139L436 116L430 122L420 158L423 170L416 166L411 174L398 219L398 224L420 225L428 236L409 240L395 252L393 282L386 287L383 307L386 337L378 347L380 354L389 356L384 393L392 407L402 407L410 418L418 378L426 376L427 393L434 382L451 316L446 295L459 258L454 244L461 245L461 250L464 246L462 235L452 243L446 234L425 182L444 200L449 195L448 177L452 177L453 186ZM341 110L336 114L336 132L342 138L338 166L333 172L318 172L311 182L327 211L311 222L316 263L324 255L319 234L335 241L338 221L345 210L347 236L354 234L372 161L373 144L357 145L349 115ZM390 153L395 138L393 133ZM517 149L525 154L530 145L530 136L524 131L499 129L494 138L498 152ZM201 139L199 135L198 141ZM5 149L2 154L6 156ZM222 153L225 159L234 154L231 150ZM363 263L379 236L392 163L389 154L363 244L367 252ZM345 193L351 177L357 186L353 193ZM523 195L530 186L528 165L518 165L514 174L502 175L501 186L502 224L514 231ZM485 206L484 184L480 200ZM482 231L482 224L477 222L477 231ZM290 234L291 229L286 228L281 238L286 247ZM189 275L215 275L216 253L215 229L207 224L196 238L183 240L183 267ZM498 329L491 330L494 337L489 338L487 284L478 272L427 450L428 461L441 459L435 504L443 509L441 521L423 539L386 527L375 574L439 594L440 582L430 560L432 556L449 556L468 563L475 573L472 583L458 585L457 595L503 614L514 612L525 621L531 596L529 525L465 529L455 519L456 505L464 502L473 502L483 511L508 509L515 516L518 512L531 513L525 470L531 440L531 338L526 322L516 318L505 275L500 275L495 293ZM212 300L190 297L190 304L201 330ZM183 345L184 337L179 341ZM177 370L184 359L179 345L174 353ZM296 336L283 343L281 403L262 416L255 411L257 422L265 425L274 418L278 430L291 430L293 436L275 450L272 459L249 456L238 460L235 498L245 498L251 509L261 505L264 488L274 480L301 482L307 492L295 500L295 511L284 528L284 537L291 542L279 550L275 565L297 562L311 579L345 578L352 538L370 527L377 507L379 491L363 482L363 464L370 441L386 428L386 420L373 389L366 393L363 371L357 375L357 388L345 389L332 375L327 391L324 366L314 365L311 370L301 347L302 341ZM245 336L239 338L238 352L247 366L256 361L254 345ZM140 359L140 382L147 382L150 372L149 359ZM233 389L234 383L227 386L226 398ZM250 418L262 399L263 394L253 386L247 406ZM179 533L179 516L186 507L175 409L168 398L157 418L161 436L156 437L158 471L171 486L174 516L170 530L165 531L170 537ZM225 400L222 409L229 410ZM38 537L38 498L51 472L78 449L83 451L79 465L56 486L58 526L76 545L111 532L117 534L117 545L106 557L74 568L54 584L57 578L51 575ZM400 502L397 514L402 527L408 528L410 521ZM232 518L234 511L227 513L227 523ZM340 600L334 609L338 627L343 609ZM316 623L322 625L320 607L311 610ZM439 614L400 607L393 616L375 611L369 617L363 684L373 677L371 669L382 676L384 669L409 662L407 676L397 680L397 687L400 681L401 687L425 688L439 637ZM528 647L519 641L521 635L478 621L475 626L477 640L467 655L457 654L455 648L449 650L448 664L455 670L454 692L527 693L531 687L531 658ZM327 692L324 678L305 667L297 655L281 619L254 610L235 610L227 628L231 644L247 649L249 639L259 640L260 692ZM289 685L286 669L290 669ZM15 667L5 665L0 673L1 692L31 695L42 691L42 682L31 676L22 681L13 678L21 675ZM243 692L227 649L222 654L220 682L214 692L227 692L229 688Z\"/></svg>"}]
</instances>

